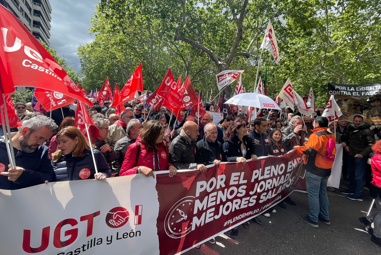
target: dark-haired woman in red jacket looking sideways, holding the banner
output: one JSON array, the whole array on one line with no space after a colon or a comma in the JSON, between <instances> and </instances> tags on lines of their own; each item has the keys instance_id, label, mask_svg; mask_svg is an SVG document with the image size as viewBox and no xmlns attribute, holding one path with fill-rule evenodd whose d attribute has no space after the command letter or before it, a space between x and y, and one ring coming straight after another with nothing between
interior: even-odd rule
<instances>
[{"instance_id":1,"label":"dark-haired woman in red jacket looking sideways, holding the banner","mask_svg":"<svg viewBox=\"0 0 381 255\"><path fill-rule=\"evenodd\" d=\"M157 120L147 122L136 143L128 146L119 175L142 173L155 178L154 172L169 170L169 176L173 177L176 168L168 161L168 146L163 139L163 125Z\"/></svg>"}]
</instances>

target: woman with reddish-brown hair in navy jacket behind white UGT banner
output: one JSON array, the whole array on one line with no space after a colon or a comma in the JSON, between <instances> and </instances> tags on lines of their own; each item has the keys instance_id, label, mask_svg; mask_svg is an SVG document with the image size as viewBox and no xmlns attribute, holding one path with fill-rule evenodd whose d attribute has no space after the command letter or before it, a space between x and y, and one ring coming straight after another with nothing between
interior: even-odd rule
<instances>
[{"instance_id":1,"label":"woman with reddish-brown hair in navy jacket behind white UGT banner","mask_svg":"<svg viewBox=\"0 0 381 255\"><path fill-rule=\"evenodd\" d=\"M52 154L54 181L72 181L81 179L96 179L99 181L111 177L102 152L90 147L88 140L76 127L66 127L57 133L58 149ZM90 150L93 150L93 156Z\"/></svg>"}]
</instances>

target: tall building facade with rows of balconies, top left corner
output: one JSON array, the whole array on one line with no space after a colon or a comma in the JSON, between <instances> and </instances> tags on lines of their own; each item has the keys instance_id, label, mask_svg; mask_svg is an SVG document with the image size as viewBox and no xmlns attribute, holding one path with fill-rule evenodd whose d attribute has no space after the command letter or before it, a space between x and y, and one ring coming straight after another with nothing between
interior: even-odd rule
<instances>
[{"instance_id":1,"label":"tall building facade with rows of balconies, top left corner","mask_svg":"<svg viewBox=\"0 0 381 255\"><path fill-rule=\"evenodd\" d=\"M0 0L40 42L50 46L51 6L49 0Z\"/></svg>"}]
</instances>

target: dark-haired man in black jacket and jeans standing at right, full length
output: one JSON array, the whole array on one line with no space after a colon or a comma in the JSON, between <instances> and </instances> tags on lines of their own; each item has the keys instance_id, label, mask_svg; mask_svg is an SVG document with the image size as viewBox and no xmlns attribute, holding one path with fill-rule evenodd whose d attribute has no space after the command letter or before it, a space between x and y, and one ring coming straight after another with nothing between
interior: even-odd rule
<instances>
[{"instance_id":1,"label":"dark-haired man in black jacket and jeans standing at right, full length","mask_svg":"<svg viewBox=\"0 0 381 255\"><path fill-rule=\"evenodd\" d=\"M342 140L342 145L348 152L349 189L343 190L341 193L347 194L347 198L351 200L362 201L366 164L372 151L371 146L375 143L375 135L370 130L370 124L364 122L361 115L356 115L353 123L348 125L347 133Z\"/></svg>"}]
</instances>

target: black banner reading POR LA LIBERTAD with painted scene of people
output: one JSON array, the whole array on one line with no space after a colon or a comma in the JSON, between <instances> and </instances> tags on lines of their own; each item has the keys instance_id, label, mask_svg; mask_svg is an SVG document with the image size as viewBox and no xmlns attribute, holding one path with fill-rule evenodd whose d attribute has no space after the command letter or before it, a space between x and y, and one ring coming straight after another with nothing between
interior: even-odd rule
<instances>
[{"instance_id":1,"label":"black banner reading POR LA LIBERTAD with painted scene of people","mask_svg":"<svg viewBox=\"0 0 381 255\"><path fill-rule=\"evenodd\" d=\"M348 121L352 121L355 115L362 115L366 122L381 123L381 83L328 83L328 100L331 95L335 96L343 117Z\"/></svg>"}]
</instances>

